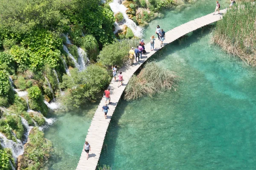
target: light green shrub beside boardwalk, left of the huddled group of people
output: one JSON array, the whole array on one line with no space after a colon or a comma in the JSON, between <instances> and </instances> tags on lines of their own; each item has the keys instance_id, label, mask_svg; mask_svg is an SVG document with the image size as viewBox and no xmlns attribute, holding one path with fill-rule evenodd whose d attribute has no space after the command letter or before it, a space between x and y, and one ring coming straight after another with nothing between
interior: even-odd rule
<instances>
[{"instance_id":1,"label":"light green shrub beside boardwalk, left of the huddled group of people","mask_svg":"<svg viewBox=\"0 0 256 170\"><path fill-rule=\"evenodd\" d=\"M105 46L99 54L99 62L105 66L122 66L126 59L128 59L128 52L131 47L135 47L138 44L138 40L127 39Z\"/></svg>"}]
</instances>

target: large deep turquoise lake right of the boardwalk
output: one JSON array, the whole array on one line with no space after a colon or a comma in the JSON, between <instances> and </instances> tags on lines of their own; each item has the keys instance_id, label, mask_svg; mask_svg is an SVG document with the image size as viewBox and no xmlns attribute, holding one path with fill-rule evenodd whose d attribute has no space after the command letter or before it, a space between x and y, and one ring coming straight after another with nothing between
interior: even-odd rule
<instances>
[{"instance_id":1,"label":"large deep turquoise lake right of the boardwalk","mask_svg":"<svg viewBox=\"0 0 256 170\"><path fill-rule=\"evenodd\" d=\"M176 91L119 102L100 164L113 170L254 170L256 73L210 43L209 29L154 57Z\"/></svg>"}]
</instances>

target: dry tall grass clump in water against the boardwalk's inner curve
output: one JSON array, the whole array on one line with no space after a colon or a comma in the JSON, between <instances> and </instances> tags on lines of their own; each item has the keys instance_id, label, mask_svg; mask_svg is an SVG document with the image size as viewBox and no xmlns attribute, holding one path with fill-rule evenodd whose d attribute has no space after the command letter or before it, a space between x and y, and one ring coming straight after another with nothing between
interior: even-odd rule
<instances>
[{"instance_id":1,"label":"dry tall grass clump in water against the boardwalk's inner curve","mask_svg":"<svg viewBox=\"0 0 256 170\"><path fill-rule=\"evenodd\" d=\"M137 76L133 75L125 89L128 101L140 99L143 95L152 97L154 94L174 88L178 77L171 71L148 62Z\"/></svg>"}]
</instances>

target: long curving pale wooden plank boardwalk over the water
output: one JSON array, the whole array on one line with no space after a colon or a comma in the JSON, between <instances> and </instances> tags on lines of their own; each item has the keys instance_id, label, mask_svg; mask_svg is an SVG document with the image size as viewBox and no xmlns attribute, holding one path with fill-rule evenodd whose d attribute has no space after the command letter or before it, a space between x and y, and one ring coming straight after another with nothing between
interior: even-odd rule
<instances>
[{"instance_id":1,"label":"long curving pale wooden plank boardwalk over the water","mask_svg":"<svg viewBox=\"0 0 256 170\"><path fill-rule=\"evenodd\" d=\"M220 12L223 14L226 10L223 9ZM176 28L173 28L170 31L166 32L166 39L164 40L164 45L167 45L178 38L182 37L185 34L188 34L189 32L195 31L198 28L201 28L203 26L209 25L211 23L214 23L218 20L221 20L222 15L216 14L212 15L208 14L204 17L197 18L195 20L191 20L188 23L184 23ZM152 33L154 34L154 33ZM149 38L149 37L148 37ZM150 51L150 43L147 43L145 45L145 49L147 53L143 55L143 59L140 59L141 63L145 62L149 57L151 57L156 51L161 49L160 47L160 41L155 40L154 43L154 51ZM128 51L127 51L128 52ZM76 167L76 170L95 170L99 161L99 156L102 150L103 142L105 139L106 132L108 130L109 122L111 121L111 117L113 115L113 112L115 111L116 105L121 98L121 95L123 91L125 90L125 86L128 83L131 76L134 74L135 71L137 71L138 68L140 68L141 64L135 63L134 65L125 65L122 68L119 69L119 71L122 71L122 75L125 79L124 84L121 87L117 87L118 82L111 82L109 87L111 88L111 102L112 104L109 104L109 111L107 119L104 118L104 113L102 112L102 106L105 104L105 99L102 98L96 112L94 113L93 119L91 121L90 128L88 129L88 133L86 136L86 141L89 142L91 146L91 151L89 154L89 159L86 159L86 153L84 150L82 150L81 157L79 160L79 163ZM118 77L117 77L118 79ZM81 146L82 149L83 146Z\"/></svg>"}]
</instances>

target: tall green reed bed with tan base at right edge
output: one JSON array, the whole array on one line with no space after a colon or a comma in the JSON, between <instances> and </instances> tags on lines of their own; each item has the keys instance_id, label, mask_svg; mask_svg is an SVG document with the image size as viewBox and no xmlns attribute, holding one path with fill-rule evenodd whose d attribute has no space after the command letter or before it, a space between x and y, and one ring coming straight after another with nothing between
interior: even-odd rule
<instances>
[{"instance_id":1,"label":"tall green reed bed with tan base at right edge","mask_svg":"<svg viewBox=\"0 0 256 170\"><path fill-rule=\"evenodd\" d=\"M256 66L256 3L233 6L216 23L213 40L229 54Z\"/></svg>"}]
</instances>

